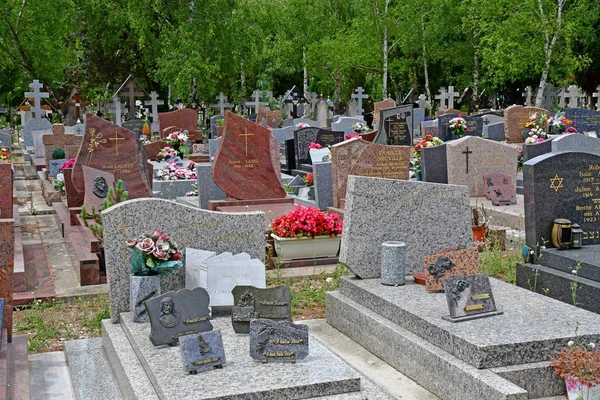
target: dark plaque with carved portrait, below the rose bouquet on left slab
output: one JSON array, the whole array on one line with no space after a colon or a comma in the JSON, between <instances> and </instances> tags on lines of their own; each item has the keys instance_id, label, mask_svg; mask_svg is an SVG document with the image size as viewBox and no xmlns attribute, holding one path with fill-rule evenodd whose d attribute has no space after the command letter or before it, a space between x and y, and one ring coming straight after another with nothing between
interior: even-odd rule
<instances>
[{"instance_id":1,"label":"dark plaque with carved portrait, below the rose bouquet on left slab","mask_svg":"<svg viewBox=\"0 0 600 400\"><path fill-rule=\"evenodd\" d=\"M152 344L174 344L180 336L211 331L209 301L206 290L195 288L168 292L144 302Z\"/></svg>"}]
</instances>

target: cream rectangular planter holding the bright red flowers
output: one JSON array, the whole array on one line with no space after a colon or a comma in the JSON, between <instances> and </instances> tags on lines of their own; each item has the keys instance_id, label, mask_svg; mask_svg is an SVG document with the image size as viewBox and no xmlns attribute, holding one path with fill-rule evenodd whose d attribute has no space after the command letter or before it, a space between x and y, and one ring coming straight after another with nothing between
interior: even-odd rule
<instances>
[{"instance_id":1,"label":"cream rectangular planter holding the bright red flowers","mask_svg":"<svg viewBox=\"0 0 600 400\"><path fill-rule=\"evenodd\" d=\"M342 235L280 238L271 233L271 237L274 240L277 256L283 261L335 257L342 241Z\"/></svg>"}]
</instances>

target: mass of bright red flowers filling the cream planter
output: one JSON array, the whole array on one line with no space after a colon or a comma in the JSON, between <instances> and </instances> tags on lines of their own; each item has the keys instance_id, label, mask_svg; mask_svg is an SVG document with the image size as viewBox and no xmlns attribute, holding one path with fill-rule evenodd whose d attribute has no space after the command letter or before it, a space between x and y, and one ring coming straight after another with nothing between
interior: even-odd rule
<instances>
[{"instance_id":1,"label":"mass of bright red flowers filling the cream planter","mask_svg":"<svg viewBox=\"0 0 600 400\"><path fill-rule=\"evenodd\" d=\"M339 218L336 213L298 205L289 214L277 217L271 227L280 238L337 236L343 225Z\"/></svg>"}]
</instances>

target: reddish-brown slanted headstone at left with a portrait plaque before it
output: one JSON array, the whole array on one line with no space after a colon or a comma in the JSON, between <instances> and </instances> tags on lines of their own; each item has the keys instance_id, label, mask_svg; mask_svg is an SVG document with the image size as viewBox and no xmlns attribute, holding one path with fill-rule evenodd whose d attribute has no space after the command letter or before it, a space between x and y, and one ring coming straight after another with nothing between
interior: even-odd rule
<instances>
[{"instance_id":1,"label":"reddish-brown slanted headstone at left with a portrait plaque before it","mask_svg":"<svg viewBox=\"0 0 600 400\"><path fill-rule=\"evenodd\" d=\"M73 187L81 194L85 191L82 165L112 173L115 180L122 179L130 199L152 197L146 152L136 134L89 113L71 177Z\"/></svg>"}]
</instances>

